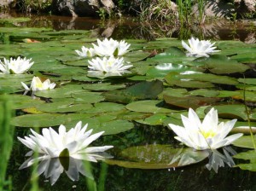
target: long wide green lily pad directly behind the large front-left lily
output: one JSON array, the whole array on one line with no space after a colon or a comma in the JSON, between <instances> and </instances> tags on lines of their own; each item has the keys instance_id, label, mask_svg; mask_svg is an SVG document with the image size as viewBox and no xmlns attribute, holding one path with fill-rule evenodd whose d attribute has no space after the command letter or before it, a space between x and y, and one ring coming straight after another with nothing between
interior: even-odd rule
<instances>
[{"instance_id":1,"label":"long wide green lily pad directly behind the large front-left lily","mask_svg":"<svg viewBox=\"0 0 256 191\"><path fill-rule=\"evenodd\" d=\"M105 135L118 134L126 130L131 130L134 125L126 120L112 120L114 117L106 118L102 116L93 116L88 113L40 113L40 114L26 114L12 119L11 124L20 127L49 127L59 126L64 124L69 128L73 128L75 124L82 121L83 124L88 123L88 130L93 129L93 132L104 130Z\"/></svg>"}]
</instances>

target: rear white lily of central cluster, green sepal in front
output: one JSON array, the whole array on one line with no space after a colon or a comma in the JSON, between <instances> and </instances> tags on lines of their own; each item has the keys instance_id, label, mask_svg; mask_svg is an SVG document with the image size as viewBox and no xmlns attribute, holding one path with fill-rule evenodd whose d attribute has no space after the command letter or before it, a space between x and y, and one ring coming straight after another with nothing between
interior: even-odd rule
<instances>
[{"instance_id":1,"label":"rear white lily of central cluster, green sepal in front","mask_svg":"<svg viewBox=\"0 0 256 191\"><path fill-rule=\"evenodd\" d=\"M131 46L130 43L125 43L124 40L120 42L113 40L113 38L105 38L104 40L97 39L98 45L92 43L96 55L99 56L120 56L125 55L128 52L129 47Z\"/></svg>"}]
</instances>

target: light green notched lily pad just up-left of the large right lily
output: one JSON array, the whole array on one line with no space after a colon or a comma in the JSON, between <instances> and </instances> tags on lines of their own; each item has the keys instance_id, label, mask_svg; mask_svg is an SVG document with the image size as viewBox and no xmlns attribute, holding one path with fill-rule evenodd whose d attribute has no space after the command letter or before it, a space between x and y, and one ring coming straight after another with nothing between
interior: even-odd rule
<instances>
[{"instance_id":1,"label":"light green notched lily pad just up-left of the large right lily","mask_svg":"<svg viewBox=\"0 0 256 191\"><path fill-rule=\"evenodd\" d=\"M165 107L163 101L158 100L144 100L144 101L133 101L126 105L126 108L133 112L141 113L172 113L175 110L168 109Z\"/></svg>"}]
</instances>

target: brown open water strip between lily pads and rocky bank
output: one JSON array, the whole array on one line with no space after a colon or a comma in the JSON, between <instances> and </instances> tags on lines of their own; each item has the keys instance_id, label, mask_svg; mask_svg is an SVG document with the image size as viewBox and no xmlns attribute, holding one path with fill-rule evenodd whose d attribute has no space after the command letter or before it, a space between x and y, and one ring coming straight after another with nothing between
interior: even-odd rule
<instances>
[{"instance_id":1,"label":"brown open water strip between lily pads and rocky bank","mask_svg":"<svg viewBox=\"0 0 256 191\"><path fill-rule=\"evenodd\" d=\"M155 38L211 38L214 40L240 40L256 43L256 21L254 20L208 20L204 25L180 27L175 21L137 20L122 18L119 20L99 20L90 17L67 17L56 15L24 15L17 13L0 14L0 18L25 16L31 18L18 26L50 27L60 30L91 30L92 38L137 38L154 40Z\"/></svg>"}]
</instances>

